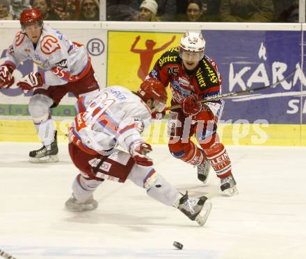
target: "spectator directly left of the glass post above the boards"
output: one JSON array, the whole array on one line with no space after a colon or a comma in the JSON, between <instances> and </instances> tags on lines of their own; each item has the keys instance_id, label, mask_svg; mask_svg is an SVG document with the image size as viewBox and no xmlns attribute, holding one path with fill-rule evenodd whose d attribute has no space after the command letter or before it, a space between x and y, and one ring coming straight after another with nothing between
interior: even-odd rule
<instances>
[{"instance_id":1,"label":"spectator directly left of the glass post above the boards","mask_svg":"<svg viewBox=\"0 0 306 259\"><path fill-rule=\"evenodd\" d=\"M81 21L99 21L99 1L98 0L81 0Z\"/></svg>"}]
</instances>

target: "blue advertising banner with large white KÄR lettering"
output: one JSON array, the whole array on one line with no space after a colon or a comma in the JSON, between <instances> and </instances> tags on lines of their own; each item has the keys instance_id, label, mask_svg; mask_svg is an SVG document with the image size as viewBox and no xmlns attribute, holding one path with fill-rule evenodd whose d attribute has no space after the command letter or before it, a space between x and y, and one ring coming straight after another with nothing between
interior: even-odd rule
<instances>
[{"instance_id":1,"label":"blue advertising banner with large white K\u00c4R lettering","mask_svg":"<svg viewBox=\"0 0 306 259\"><path fill-rule=\"evenodd\" d=\"M223 119L258 119L269 124L306 123L305 73L300 31L202 31L207 55L223 76L223 92L271 85L276 87L226 100ZM301 116L301 114L303 116Z\"/></svg>"}]
</instances>

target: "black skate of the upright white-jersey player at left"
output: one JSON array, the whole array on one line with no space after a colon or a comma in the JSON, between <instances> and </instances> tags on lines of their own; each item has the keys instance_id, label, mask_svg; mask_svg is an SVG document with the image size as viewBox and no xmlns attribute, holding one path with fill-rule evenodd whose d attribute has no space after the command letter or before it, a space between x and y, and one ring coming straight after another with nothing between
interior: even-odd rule
<instances>
[{"instance_id":1,"label":"black skate of the upright white-jersey player at left","mask_svg":"<svg viewBox=\"0 0 306 259\"><path fill-rule=\"evenodd\" d=\"M57 131L54 133L54 140L51 144L41 149L30 151L29 161L34 163L58 162L58 146L56 140Z\"/></svg>"}]
</instances>

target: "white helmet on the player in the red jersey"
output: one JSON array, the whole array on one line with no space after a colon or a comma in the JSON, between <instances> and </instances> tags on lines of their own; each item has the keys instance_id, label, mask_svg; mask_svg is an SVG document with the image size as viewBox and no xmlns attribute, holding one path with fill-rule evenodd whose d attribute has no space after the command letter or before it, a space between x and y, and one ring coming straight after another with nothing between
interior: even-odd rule
<instances>
[{"instance_id":1,"label":"white helmet on the player in the red jersey","mask_svg":"<svg viewBox=\"0 0 306 259\"><path fill-rule=\"evenodd\" d=\"M187 31L179 44L179 56L188 61L200 61L204 56L205 44L202 33Z\"/></svg>"}]
</instances>

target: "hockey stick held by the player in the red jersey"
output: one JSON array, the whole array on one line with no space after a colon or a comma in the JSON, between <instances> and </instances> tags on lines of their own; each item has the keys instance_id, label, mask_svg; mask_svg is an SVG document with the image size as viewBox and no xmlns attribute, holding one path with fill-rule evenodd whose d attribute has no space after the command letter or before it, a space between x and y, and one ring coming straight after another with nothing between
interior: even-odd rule
<instances>
[{"instance_id":1,"label":"hockey stick held by the player in the red jersey","mask_svg":"<svg viewBox=\"0 0 306 259\"><path fill-rule=\"evenodd\" d=\"M229 97L238 97L239 95L244 95L244 94L252 94L253 92L257 92L259 90L264 90L264 89L268 89L271 88L275 85L278 85L279 83L282 83L283 81L287 80L290 76L292 76L294 73L296 72L296 69L294 69L293 72L291 72L288 76L282 78L282 80L277 81L271 85L266 85L266 86L261 86L261 87L257 87L257 88L253 88L253 89L249 89L249 90L241 90L241 91L237 91L237 92L229 92L227 94L220 94L216 97L210 97L207 99L203 99L203 100L199 100L197 101L197 103L208 103L209 101L215 101L218 99L223 99L223 98L229 98ZM165 108L165 110L173 110L173 109L177 109L177 108L181 108L182 106L180 104L177 104L175 106L168 106Z\"/></svg>"}]
</instances>

